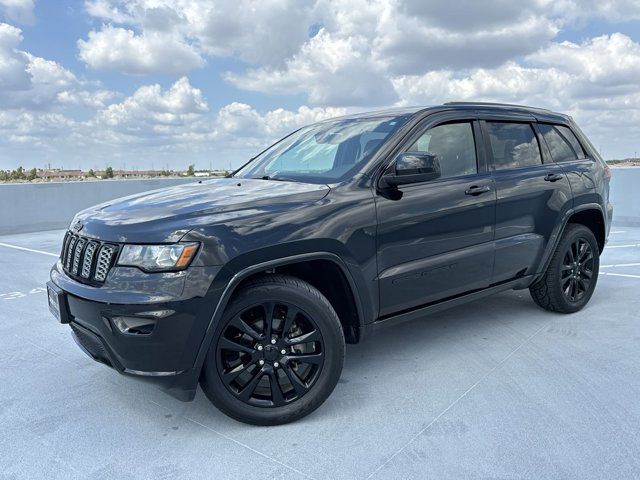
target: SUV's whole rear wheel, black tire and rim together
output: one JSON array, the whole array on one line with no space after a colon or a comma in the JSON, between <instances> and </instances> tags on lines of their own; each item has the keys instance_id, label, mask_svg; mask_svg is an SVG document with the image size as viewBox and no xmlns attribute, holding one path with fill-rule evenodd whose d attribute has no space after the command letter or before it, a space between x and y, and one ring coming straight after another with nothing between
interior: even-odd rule
<instances>
[{"instance_id":1,"label":"SUV's whole rear wheel, black tire and rim together","mask_svg":"<svg viewBox=\"0 0 640 480\"><path fill-rule=\"evenodd\" d=\"M583 246L585 253L576 253ZM574 261L576 257L578 262ZM547 271L529 287L531 297L545 310L577 312L593 295L599 269L600 250L593 232L584 225L570 223L562 234Z\"/></svg>"}]
</instances>

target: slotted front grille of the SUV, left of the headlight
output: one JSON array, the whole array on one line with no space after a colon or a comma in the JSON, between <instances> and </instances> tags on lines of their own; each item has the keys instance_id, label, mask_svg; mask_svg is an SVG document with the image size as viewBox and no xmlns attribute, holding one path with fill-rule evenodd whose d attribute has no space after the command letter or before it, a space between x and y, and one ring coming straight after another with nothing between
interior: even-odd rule
<instances>
[{"instance_id":1,"label":"slotted front grille of the SUV, left of the headlight","mask_svg":"<svg viewBox=\"0 0 640 480\"><path fill-rule=\"evenodd\" d=\"M117 245L67 232L60 260L66 273L87 282L103 283L117 252Z\"/></svg>"}]
</instances>

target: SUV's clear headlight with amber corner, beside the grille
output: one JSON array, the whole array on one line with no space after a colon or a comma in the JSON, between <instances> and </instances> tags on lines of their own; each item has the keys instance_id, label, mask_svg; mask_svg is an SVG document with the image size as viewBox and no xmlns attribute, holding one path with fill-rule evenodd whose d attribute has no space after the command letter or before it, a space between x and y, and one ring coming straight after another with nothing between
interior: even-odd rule
<instances>
[{"instance_id":1,"label":"SUV's clear headlight with amber corner, beside the grille","mask_svg":"<svg viewBox=\"0 0 640 480\"><path fill-rule=\"evenodd\" d=\"M118 265L138 267L148 272L183 270L198 251L197 243L175 245L125 245Z\"/></svg>"}]
</instances>

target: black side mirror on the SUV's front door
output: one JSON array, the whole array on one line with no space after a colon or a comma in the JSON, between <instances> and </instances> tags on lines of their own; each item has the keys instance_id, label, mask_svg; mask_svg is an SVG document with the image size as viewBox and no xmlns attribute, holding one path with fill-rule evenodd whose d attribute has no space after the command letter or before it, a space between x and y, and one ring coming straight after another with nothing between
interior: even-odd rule
<instances>
[{"instance_id":1,"label":"black side mirror on the SUV's front door","mask_svg":"<svg viewBox=\"0 0 640 480\"><path fill-rule=\"evenodd\" d=\"M381 180L387 187L427 182L440 178L440 161L429 152L400 153Z\"/></svg>"}]
</instances>

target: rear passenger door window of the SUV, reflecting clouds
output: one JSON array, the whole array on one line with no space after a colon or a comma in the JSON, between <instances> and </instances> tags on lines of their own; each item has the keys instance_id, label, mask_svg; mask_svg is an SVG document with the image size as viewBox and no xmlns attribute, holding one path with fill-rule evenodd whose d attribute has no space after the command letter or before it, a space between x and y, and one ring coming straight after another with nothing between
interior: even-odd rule
<instances>
[{"instance_id":1,"label":"rear passenger door window of the SUV, reflecting clouds","mask_svg":"<svg viewBox=\"0 0 640 480\"><path fill-rule=\"evenodd\" d=\"M528 123L487 122L496 170L542 165L540 146Z\"/></svg>"}]
</instances>

